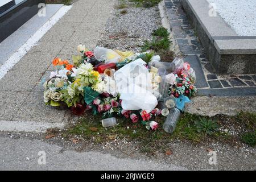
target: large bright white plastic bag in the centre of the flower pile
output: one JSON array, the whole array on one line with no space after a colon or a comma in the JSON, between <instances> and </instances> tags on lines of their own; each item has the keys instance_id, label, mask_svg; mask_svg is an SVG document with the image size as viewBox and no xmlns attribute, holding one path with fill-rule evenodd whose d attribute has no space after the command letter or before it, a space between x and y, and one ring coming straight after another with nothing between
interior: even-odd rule
<instances>
[{"instance_id":1,"label":"large bright white plastic bag in the centre of the flower pile","mask_svg":"<svg viewBox=\"0 0 256 182\"><path fill-rule=\"evenodd\" d=\"M154 96L151 75L142 59L135 60L114 74L118 93L125 110L146 110L148 113L158 104Z\"/></svg>"}]
</instances>

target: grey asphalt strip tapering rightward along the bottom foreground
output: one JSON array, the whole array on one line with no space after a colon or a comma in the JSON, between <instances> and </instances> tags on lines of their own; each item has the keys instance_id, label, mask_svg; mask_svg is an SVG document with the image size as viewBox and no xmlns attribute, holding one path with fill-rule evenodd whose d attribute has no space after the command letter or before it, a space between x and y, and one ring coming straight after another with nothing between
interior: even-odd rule
<instances>
[{"instance_id":1,"label":"grey asphalt strip tapering rightward along the bottom foreground","mask_svg":"<svg viewBox=\"0 0 256 182\"><path fill-rule=\"evenodd\" d=\"M0 137L0 148L0 170L186 170L174 164L116 158L100 152L63 151L62 147L40 140Z\"/></svg>"}]
</instances>

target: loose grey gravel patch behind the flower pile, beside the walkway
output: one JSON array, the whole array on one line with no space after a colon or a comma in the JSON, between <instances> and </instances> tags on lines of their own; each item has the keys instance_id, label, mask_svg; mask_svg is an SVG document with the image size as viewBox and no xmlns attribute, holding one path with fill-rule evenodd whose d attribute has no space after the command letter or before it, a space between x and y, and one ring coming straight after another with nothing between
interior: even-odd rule
<instances>
[{"instance_id":1,"label":"loose grey gravel patch behind the flower pile, beside the walkway","mask_svg":"<svg viewBox=\"0 0 256 182\"><path fill-rule=\"evenodd\" d=\"M158 7L150 9L135 7L128 3L126 9L115 9L106 23L105 34L102 35L98 46L119 49L121 51L141 52L145 40L151 40L151 33L161 26ZM126 10L127 13L121 12Z\"/></svg>"}]
</instances>

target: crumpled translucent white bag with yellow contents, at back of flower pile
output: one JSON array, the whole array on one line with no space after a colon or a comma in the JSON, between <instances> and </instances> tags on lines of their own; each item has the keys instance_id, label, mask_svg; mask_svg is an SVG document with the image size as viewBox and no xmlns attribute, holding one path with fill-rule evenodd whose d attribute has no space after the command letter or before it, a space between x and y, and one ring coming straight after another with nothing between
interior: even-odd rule
<instances>
[{"instance_id":1,"label":"crumpled translucent white bag with yellow contents, at back of flower pile","mask_svg":"<svg viewBox=\"0 0 256 182\"><path fill-rule=\"evenodd\" d=\"M94 56L97 60L105 61L106 64L118 63L118 61L122 59L122 56L118 55L118 53L112 49L98 46L94 49Z\"/></svg>"}]
</instances>

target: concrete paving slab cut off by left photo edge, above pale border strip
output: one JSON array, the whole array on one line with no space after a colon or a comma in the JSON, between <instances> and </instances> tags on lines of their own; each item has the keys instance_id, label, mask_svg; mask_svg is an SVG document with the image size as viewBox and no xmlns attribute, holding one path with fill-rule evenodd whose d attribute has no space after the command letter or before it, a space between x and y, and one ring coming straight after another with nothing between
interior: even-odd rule
<instances>
[{"instance_id":1,"label":"concrete paving slab cut off by left photo edge, above pale border strip","mask_svg":"<svg viewBox=\"0 0 256 182\"><path fill-rule=\"evenodd\" d=\"M11 120L28 97L29 92L0 92L0 120ZM0 125L1 122L0 122Z\"/></svg>"}]
</instances>

